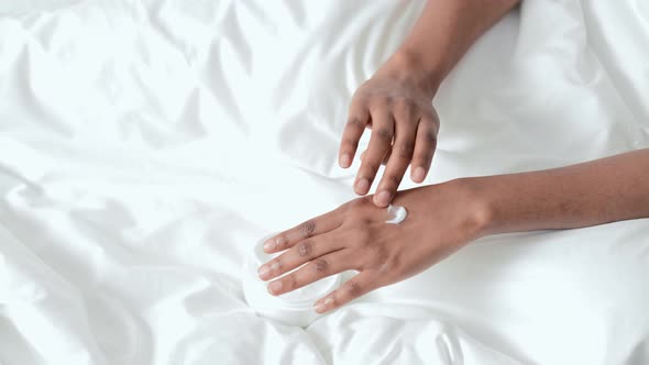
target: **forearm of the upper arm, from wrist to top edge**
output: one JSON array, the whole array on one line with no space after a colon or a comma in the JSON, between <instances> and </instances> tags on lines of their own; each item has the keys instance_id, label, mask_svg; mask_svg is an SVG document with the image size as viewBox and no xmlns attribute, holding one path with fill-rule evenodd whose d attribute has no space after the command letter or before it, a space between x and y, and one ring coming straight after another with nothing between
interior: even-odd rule
<instances>
[{"instance_id":1,"label":"forearm of the upper arm, from wrist to top edge","mask_svg":"<svg viewBox=\"0 0 649 365\"><path fill-rule=\"evenodd\" d=\"M420 71L437 90L469 47L519 0L428 0L388 69Z\"/></svg>"}]
</instances>

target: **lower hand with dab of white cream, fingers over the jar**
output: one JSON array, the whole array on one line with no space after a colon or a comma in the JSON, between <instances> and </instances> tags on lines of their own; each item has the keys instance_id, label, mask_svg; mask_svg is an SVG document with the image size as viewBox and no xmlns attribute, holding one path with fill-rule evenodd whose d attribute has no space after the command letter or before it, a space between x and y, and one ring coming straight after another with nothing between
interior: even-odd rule
<instances>
[{"instance_id":1,"label":"lower hand with dab of white cream, fingers over the jar","mask_svg":"<svg viewBox=\"0 0 649 365\"><path fill-rule=\"evenodd\" d=\"M321 313L416 275L477 239L486 226L486 210L463 181L398 192L394 203L408 210L399 224L385 223L386 209L363 197L282 232L266 241L264 251L285 252L260 266L260 277L275 279L268 291L282 295L344 270L359 272L316 302Z\"/></svg>"}]
</instances>

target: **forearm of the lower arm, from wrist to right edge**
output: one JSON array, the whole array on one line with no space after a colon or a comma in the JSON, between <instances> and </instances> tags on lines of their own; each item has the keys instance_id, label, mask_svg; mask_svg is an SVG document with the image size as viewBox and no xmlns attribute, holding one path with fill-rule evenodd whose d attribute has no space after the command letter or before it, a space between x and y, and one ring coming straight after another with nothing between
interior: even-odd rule
<instances>
[{"instance_id":1,"label":"forearm of the lower arm, from wrist to right edge","mask_svg":"<svg viewBox=\"0 0 649 365\"><path fill-rule=\"evenodd\" d=\"M469 178L483 234L649 218L649 148L562 168Z\"/></svg>"}]
</instances>

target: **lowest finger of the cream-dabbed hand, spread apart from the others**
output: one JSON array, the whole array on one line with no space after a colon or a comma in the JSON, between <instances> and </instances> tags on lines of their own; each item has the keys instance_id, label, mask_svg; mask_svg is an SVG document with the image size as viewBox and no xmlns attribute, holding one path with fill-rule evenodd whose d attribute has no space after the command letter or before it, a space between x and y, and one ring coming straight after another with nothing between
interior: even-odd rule
<instances>
[{"instance_id":1,"label":"lowest finger of the cream-dabbed hand, spread apart from the others","mask_svg":"<svg viewBox=\"0 0 649 365\"><path fill-rule=\"evenodd\" d=\"M315 309L318 313L323 313L340 308L376 289L378 286L378 280L376 280L375 275L372 272L361 272L361 274L344 283L333 292L316 301Z\"/></svg>"}]
</instances>

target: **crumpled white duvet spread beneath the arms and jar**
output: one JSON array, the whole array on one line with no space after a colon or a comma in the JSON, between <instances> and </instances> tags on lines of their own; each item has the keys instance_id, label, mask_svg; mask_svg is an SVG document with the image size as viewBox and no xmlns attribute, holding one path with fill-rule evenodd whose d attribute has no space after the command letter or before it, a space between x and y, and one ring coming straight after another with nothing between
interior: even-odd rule
<instances>
[{"instance_id":1,"label":"crumpled white duvet spread beneath the arms and jar","mask_svg":"<svg viewBox=\"0 0 649 365\"><path fill-rule=\"evenodd\" d=\"M306 328L244 301L261 236L353 198L350 96L424 1L0 4L0 364L649 364L649 220L487 237ZM649 2L525 0L435 103L427 182L649 147Z\"/></svg>"}]
</instances>

